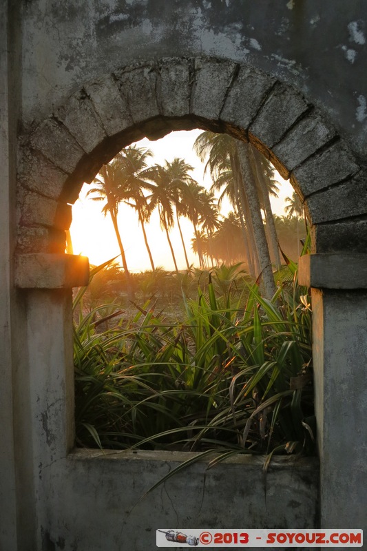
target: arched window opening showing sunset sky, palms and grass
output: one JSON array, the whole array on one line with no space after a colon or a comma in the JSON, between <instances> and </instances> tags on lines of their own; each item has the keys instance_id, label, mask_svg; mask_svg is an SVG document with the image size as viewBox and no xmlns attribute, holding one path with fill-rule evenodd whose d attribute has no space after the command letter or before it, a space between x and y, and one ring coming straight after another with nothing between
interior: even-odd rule
<instances>
[{"instance_id":1,"label":"arched window opening showing sunset sky, palms and grass","mask_svg":"<svg viewBox=\"0 0 367 551\"><path fill-rule=\"evenodd\" d=\"M236 142L144 138L81 190L72 243L94 266L74 295L78 446L313 451L304 209L252 145L246 174Z\"/></svg>"}]
</instances>

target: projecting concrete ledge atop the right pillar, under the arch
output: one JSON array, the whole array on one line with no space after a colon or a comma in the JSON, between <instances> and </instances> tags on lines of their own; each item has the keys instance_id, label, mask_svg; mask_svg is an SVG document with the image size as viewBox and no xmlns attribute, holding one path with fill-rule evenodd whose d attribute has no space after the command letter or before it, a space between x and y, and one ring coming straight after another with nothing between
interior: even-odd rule
<instances>
[{"instance_id":1,"label":"projecting concrete ledge atop the right pillar, under the arch","mask_svg":"<svg viewBox=\"0 0 367 551\"><path fill-rule=\"evenodd\" d=\"M367 289L367 254L301 256L298 282L314 289Z\"/></svg>"}]
</instances>

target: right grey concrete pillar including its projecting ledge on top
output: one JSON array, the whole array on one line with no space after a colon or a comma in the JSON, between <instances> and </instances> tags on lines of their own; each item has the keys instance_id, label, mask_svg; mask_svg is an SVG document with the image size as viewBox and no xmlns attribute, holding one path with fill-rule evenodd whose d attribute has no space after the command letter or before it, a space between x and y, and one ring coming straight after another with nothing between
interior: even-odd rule
<instances>
[{"instance_id":1,"label":"right grey concrete pillar including its projecting ledge on top","mask_svg":"<svg viewBox=\"0 0 367 551\"><path fill-rule=\"evenodd\" d=\"M300 259L312 288L322 528L367 530L367 255Z\"/></svg>"}]
</instances>

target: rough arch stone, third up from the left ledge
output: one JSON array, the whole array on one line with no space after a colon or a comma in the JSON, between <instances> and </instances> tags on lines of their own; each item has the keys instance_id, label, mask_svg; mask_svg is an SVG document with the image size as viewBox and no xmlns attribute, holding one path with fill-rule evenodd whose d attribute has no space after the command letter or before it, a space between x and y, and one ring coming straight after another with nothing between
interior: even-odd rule
<instances>
[{"instance_id":1,"label":"rough arch stone, third up from the left ledge","mask_svg":"<svg viewBox=\"0 0 367 551\"><path fill-rule=\"evenodd\" d=\"M22 149L18 167L23 187L56 200L62 196L68 175L39 152Z\"/></svg>"}]
</instances>

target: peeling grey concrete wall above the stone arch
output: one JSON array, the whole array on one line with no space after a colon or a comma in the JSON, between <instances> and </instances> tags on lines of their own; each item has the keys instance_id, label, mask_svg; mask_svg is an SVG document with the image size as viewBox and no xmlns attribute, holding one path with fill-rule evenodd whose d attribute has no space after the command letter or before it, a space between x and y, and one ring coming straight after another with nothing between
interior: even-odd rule
<instances>
[{"instance_id":1,"label":"peeling grey concrete wall above the stone arch","mask_svg":"<svg viewBox=\"0 0 367 551\"><path fill-rule=\"evenodd\" d=\"M367 159L366 21L363 0L33 0L23 5L23 121L137 59L209 55L295 86Z\"/></svg>"}]
</instances>

